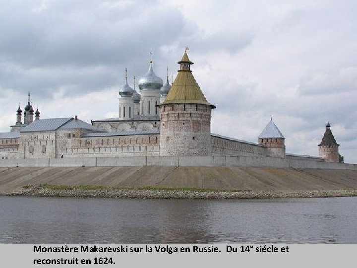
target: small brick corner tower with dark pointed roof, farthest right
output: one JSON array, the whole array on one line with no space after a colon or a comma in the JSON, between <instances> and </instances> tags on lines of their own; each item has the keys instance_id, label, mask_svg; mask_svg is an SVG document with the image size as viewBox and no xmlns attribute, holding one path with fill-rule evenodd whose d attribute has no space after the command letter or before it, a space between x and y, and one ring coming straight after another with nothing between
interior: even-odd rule
<instances>
[{"instance_id":1,"label":"small brick corner tower with dark pointed roof, farthest right","mask_svg":"<svg viewBox=\"0 0 357 268\"><path fill-rule=\"evenodd\" d=\"M331 131L330 122L327 122L325 134L321 140L319 146L320 156L325 159L326 162L339 162L339 144L337 144L334 135Z\"/></svg>"}]
</instances>

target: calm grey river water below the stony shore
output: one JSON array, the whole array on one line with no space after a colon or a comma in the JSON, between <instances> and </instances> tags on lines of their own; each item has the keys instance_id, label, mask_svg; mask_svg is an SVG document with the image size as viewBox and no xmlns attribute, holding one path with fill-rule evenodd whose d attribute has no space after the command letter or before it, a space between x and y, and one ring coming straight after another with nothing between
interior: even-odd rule
<instances>
[{"instance_id":1,"label":"calm grey river water below the stony shore","mask_svg":"<svg viewBox=\"0 0 357 268\"><path fill-rule=\"evenodd\" d=\"M0 197L0 243L357 243L357 198Z\"/></svg>"}]
</instances>

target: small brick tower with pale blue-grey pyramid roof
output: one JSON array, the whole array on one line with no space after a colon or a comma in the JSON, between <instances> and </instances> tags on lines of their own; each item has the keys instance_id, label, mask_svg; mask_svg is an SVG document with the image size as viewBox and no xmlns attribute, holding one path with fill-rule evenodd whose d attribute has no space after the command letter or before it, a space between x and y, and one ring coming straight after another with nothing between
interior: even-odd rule
<instances>
[{"instance_id":1,"label":"small brick tower with pale blue-grey pyramid roof","mask_svg":"<svg viewBox=\"0 0 357 268\"><path fill-rule=\"evenodd\" d=\"M258 143L267 148L268 156L285 157L285 137L274 124L272 118L258 136Z\"/></svg>"}]
</instances>

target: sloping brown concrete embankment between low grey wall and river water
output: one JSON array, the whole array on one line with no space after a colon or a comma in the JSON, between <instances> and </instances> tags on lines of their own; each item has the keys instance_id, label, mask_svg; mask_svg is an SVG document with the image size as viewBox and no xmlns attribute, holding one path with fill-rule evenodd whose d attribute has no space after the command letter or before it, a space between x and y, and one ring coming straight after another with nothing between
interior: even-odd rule
<instances>
[{"instance_id":1,"label":"sloping brown concrete embankment between low grey wall and river water","mask_svg":"<svg viewBox=\"0 0 357 268\"><path fill-rule=\"evenodd\" d=\"M104 190L72 189L65 190L67 192L64 190L59 192L38 187L44 184L67 186L90 185L111 188ZM23 188L23 186L29 185L36 187ZM173 192L162 190L163 192L160 192L158 190L132 189L146 186L156 188L194 188L229 191L202 191L197 192L199 194L195 194L195 191L188 191L190 193L186 193L184 190L174 190ZM131 188L131 190L118 188ZM193 198L196 196L196 198L234 199L356 196L356 189L357 170L345 169L327 170L233 166L0 168L0 194L2 195L60 195L120 198L192 198L193 195ZM170 193L165 191L169 191ZM208 194L211 192L213 194Z\"/></svg>"}]
</instances>

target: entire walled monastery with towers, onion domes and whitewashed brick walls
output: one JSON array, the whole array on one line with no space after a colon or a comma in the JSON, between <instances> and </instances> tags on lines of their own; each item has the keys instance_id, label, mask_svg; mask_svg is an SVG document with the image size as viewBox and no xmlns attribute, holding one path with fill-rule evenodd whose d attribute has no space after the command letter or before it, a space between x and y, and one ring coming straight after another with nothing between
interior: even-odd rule
<instances>
[{"instance_id":1,"label":"entire walled monastery with towers, onion domes and whitewashed brick walls","mask_svg":"<svg viewBox=\"0 0 357 268\"><path fill-rule=\"evenodd\" d=\"M138 81L140 93L125 84L119 88L116 118L81 121L75 116L40 119L30 104L17 109L11 132L0 133L1 159L118 157L118 156L259 156L339 162L337 144L329 123L319 157L287 154L285 137L272 119L257 137L258 143L211 133L211 110L192 75L185 50L172 85L153 70ZM125 71L126 73L126 71ZM35 114L35 119L34 119Z\"/></svg>"}]
</instances>

